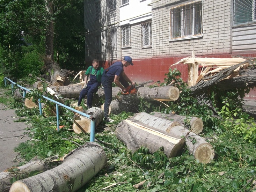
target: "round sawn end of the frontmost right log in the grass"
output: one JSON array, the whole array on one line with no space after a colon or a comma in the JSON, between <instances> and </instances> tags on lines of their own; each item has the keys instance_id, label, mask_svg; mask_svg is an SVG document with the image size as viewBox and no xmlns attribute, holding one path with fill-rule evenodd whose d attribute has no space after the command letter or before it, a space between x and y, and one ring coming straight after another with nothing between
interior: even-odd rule
<instances>
[{"instance_id":1,"label":"round sawn end of the frontmost right log in the grass","mask_svg":"<svg viewBox=\"0 0 256 192\"><path fill-rule=\"evenodd\" d=\"M210 163L214 158L214 149L210 143L202 143L197 147L195 158L201 163Z\"/></svg>"}]
</instances>

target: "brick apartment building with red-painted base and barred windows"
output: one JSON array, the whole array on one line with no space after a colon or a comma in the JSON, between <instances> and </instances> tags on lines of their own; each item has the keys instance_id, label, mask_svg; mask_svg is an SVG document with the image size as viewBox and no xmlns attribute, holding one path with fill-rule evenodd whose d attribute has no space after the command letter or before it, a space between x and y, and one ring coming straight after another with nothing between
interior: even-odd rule
<instances>
[{"instance_id":1,"label":"brick apartment building with red-painted base and barred windows","mask_svg":"<svg viewBox=\"0 0 256 192\"><path fill-rule=\"evenodd\" d=\"M256 57L256 0L84 0L86 65L131 56L132 81L161 82L196 57ZM175 66L183 80L188 68Z\"/></svg>"}]
</instances>

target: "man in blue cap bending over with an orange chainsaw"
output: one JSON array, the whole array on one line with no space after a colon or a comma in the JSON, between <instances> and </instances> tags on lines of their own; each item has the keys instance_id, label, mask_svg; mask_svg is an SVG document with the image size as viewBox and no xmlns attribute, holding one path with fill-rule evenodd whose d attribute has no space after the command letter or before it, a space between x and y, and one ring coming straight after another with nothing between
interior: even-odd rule
<instances>
[{"instance_id":1,"label":"man in blue cap bending over with an orange chainsaw","mask_svg":"<svg viewBox=\"0 0 256 192\"><path fill-rule=\"evenodd\" d=\"M111 121L108 118L109 106L112 101L112 82L114 82L119 88L122 89L123 93L127 93L131 86L129 83L134 85L129 77L124 73L124 67L128 67L129 65L133 65L132 58L129 56L125 56L122 61L117 61L109 68L105 69L102 77L101 84L104 87L105 94L105 104L104 104L104 121ZM129 82L129 83L128 83ZM128 90L127 90L128 89Z\"/></svg>"}]
</instances>

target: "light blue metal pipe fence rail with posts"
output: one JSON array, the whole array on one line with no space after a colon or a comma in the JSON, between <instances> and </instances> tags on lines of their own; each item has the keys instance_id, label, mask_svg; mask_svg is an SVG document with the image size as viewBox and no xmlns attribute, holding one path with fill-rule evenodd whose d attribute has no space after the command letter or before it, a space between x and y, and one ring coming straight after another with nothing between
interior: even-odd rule
<instances>
[{"instance_id":1,"label":"light blue metal pipe fence rail with posts","mask_svg":"<svg viewBox=\"0 0 256 192\"><path fill-rule=\"evenodd\" d=\"M19 87L20 89L23 90L23 98L26 97L27 91L28 91L28 92L31 92L29 89L18 85L17 83L13 82L12 80L8 79L7 77L5 77L5 86L6 86L6 80L8 80L8 81L10 81L10 82L12 83L12 92L13 92L13 94L14 94L14 85L16 85L17 87ZM51 101L51 102L53 102L53 103L56 103L56 114L57 114L56 117L57 117L57 130L58 130L58 131L59 131L59 105L60 105L60 106L63 106L64 108L66 108L66 109L68 109L68 110L71 110L71 111L73 111L73 112L75 112L75 113L78 113L78 114L80 114L80 115L82 115L82 116L84 116L84 117L87 117L87 118L89 118L89 119L91 120L90 142L94 142L94 140L95 140L95 118L94 118L93 116L90 116L90 115L88 115L88 114L86 114L86 113L83 113L83 112L81 112L81 111L78 111L78 110L76 110L76 109L73 109L73 108L71 108L71 107L69 107L69 106L67 106L67 105L64 105L64 104L62 104L62 103L59 103L59 102L57 102L57 101L54 101L54 100L51 99L51 98L48 98L48 97L45 97L45 96L42 96L42 97L45 98L45 99L47 99L47 100L49 100L49 101ZM40 115L43 115L41 99L38 99L38 104L39 104Z\"/></svg>"}]
</instances>

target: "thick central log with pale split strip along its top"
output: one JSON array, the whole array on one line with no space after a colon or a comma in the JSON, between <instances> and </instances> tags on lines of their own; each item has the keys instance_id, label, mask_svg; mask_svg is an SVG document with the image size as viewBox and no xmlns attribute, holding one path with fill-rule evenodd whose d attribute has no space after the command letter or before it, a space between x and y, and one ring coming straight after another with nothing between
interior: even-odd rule
<instances>
[{"instance_id":1,"label":"thick central log with pale split strip along its top","mask_svg":"<svg viewBox=\"0 0 256 192\"><path fill-rule=\"evenodd\" d=\"M141 146L146 146L150 153L154 153L163 147L164 154L169 157L180 155L184 147L184 139L157 130L140 121L128 118L121 121L116 128L116 136L123 141L128 149L136 151Z\"/></svg>"}]
</instances>

